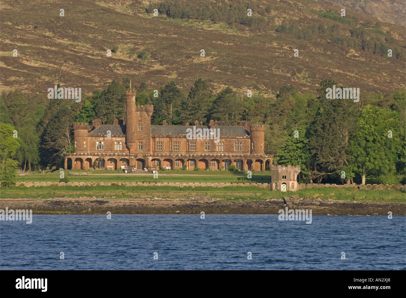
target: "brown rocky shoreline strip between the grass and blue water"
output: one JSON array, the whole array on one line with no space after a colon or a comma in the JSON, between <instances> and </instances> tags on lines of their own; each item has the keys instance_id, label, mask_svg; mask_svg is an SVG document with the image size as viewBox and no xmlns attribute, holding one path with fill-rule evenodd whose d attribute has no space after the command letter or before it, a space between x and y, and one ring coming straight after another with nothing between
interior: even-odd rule
<instances>
[{"instance_id":1,"label":"brown rocky shoreline strip between the grass and blue water","mask_svg":"<svg viewBox=\"0 0 406 298\"><path fill-rule=\"evenodd\" d=\"M338 201L297 196L285 199L227 201L207 195L173 198L57 197L0 200L1 209L32 209L33 214L278 214L280 209L311 209L313 215L406 215L399 203Z\"/></svg>"}]
</instances>

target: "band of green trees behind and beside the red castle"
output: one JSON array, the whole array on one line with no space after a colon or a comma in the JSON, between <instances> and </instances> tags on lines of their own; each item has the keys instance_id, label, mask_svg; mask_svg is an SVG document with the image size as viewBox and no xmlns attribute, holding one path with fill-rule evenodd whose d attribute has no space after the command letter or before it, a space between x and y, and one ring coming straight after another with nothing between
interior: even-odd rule
<instances>
[{"instance_id":1,"label":"band of green trees behind and beside the red castle","mask_svg":"<svg viewBox=\"0 0 406 298\"><path fill-rule=\"evenodd\" d=\"M121 83L113 80L82 103L60 99L45 103L46 99L19 90L1 94L2 168L13 160L15 167L30 171L63 166L63 154L73 152L73 122L125 121L129 85L128 77ZM153 125L162 125L163 120L207 125L211 119L224 125L265 124L265 153L274 155L274 164L300 165L301 182L404 183L405 89L384 95L361 92L360 101L354 103L326 99L326 88L333 85L339 86L325 79L315 93L300 94L290 85L281 87L275 97L261 91L248 97L231 87L213 92L201 78L190 90L175 81L160 88L142 82L136 88L136 104L154 105Z\"/></svg>"}]
</instances>

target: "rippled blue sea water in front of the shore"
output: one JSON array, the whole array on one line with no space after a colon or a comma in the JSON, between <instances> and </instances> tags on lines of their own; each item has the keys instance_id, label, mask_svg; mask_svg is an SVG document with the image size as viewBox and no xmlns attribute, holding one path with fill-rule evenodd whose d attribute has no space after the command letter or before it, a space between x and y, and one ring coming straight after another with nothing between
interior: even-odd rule
<instances>
[{"instance_id":1,"label":"rippled blue sea water in front of the shore","mask_svg":"<svg viewBox=\"0 0 406 298\"><path fill-rule=\"evenodd\" d=\"M405 270L405 241L404 216L33 215L0 221L0 268Z\"/></svg>"}]
</instances>

